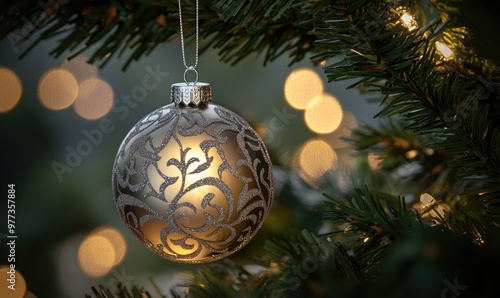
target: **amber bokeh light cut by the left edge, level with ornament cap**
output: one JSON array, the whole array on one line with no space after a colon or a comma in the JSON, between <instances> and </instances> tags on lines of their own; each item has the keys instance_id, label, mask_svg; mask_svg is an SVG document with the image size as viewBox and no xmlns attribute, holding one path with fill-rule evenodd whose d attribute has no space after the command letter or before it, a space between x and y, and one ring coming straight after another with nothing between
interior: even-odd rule
<instances>
[{"instance_id":1,"label":"amber bokeh light cut by the left edge, level with ornament cap","mask_svg":"<svg viewBox=\"0 0 500 298\"><path fill-rule=\"evenodd\" d=\"M0 68L0 113L12 110L23 93L21 80L8 68Z\"/></svg>"}]
</instances>

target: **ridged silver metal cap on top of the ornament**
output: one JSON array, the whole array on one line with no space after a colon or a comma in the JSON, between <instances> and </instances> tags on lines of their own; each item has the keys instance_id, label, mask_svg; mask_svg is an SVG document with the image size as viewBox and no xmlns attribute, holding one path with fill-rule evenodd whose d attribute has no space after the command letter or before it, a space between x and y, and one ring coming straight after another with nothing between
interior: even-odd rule
<instances>
[{"instance_id":1,"label":"ridged silver metal cap on top of the ornament","mask_svg":"<svg viewBox=\"0 0 500 298\"><path fill-rule=\"evenodd\" d=\"M203 82L175 83L172 84L170 97L178 106L203 108L212 102L212 88Z\"/></svg>"}]
</instances>

